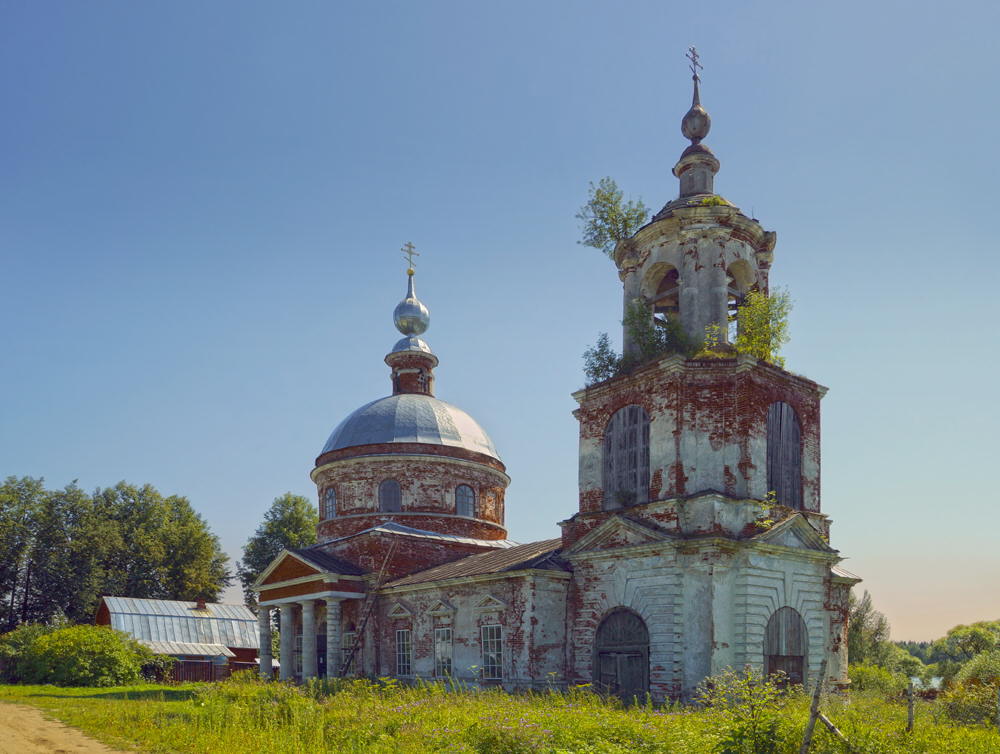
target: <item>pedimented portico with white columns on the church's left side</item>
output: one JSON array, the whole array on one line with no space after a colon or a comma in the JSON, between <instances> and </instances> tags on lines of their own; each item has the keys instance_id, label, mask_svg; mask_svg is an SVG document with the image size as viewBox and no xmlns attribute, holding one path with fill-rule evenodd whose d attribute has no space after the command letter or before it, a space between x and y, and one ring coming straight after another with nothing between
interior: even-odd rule
<instances>
[{"instance_id":1,"label":"pedimented portico with white columns on the church's left side","mask_svg":"<svg viewBox=\"0 0 1000 754\"><path fill-rule=\"evenodd\" d=\"M272 611L277 610L280 656L285 658L280 680L335 677L340 670L344 634L341 605L365 596L359 569L315 550L284 550L261 574L254 591L258 599L261 676L273 675ZM325 627L322 632L321 626ZM320 636L324 640L322 647ZM301 647L296 646L298 637ZM294 661L296 655L301 657L301 666Z\"/></svg>"}]
</instances>

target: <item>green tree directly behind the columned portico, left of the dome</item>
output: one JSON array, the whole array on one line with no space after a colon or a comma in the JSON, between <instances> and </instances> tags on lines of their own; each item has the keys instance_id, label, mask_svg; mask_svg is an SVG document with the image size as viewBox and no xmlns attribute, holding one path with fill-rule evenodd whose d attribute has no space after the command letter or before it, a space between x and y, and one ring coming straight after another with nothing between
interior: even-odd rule
<instances>
[{"instance_id":1,"label":"green tree directly behind the columned portico, left of the dome","mask_svg":"<svg viewBox=\"0 0 1000 754\"><path fill-rule=\"evenodd\" d=\"M236 566L248 605L256 604L250 586L279 552L315 544L318 523L316 508L302 495L286 492L274 499L263 522L243 546L243 559Z\"/></svg>"}]
</instances>

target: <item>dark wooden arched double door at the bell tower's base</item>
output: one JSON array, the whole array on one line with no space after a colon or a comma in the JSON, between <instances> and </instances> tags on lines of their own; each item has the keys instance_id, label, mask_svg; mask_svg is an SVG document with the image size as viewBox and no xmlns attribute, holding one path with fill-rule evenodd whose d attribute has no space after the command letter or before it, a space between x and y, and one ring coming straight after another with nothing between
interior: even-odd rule
<instances>
[{"instance_id":1,"label":"dark wooden arched double door at the bell tower's base","mask_svg":"<svg viewBox=\"0 0 1000 754\"><path fill-rule=\"evenodd\" d=\"M605 694L642 701L649 691L649 631L638 614L609 613L594 637L594 684Z\"/></svg>"}]
</instances>

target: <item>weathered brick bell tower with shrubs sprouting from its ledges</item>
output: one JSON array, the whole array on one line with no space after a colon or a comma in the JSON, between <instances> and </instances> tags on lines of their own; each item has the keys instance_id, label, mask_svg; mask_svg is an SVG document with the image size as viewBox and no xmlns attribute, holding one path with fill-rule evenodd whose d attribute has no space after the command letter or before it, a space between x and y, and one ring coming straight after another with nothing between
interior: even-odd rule
<instances>
[{"instance_id":1,"label":"weathered brick bell tower with shrubs sprouting from its ledges","mask_svg":"<svg viewBox=\"0 0 1000 754\"><path fill-rule=\"evenodd\" d=\"M726 667L802 683L826 657L828 678L844 680L857 579L836 567L820 505L826 388L732 346L744 298L768 292L776 236L715 193L688 57L677 198L614 253L630 366L573 396L579 510L561 524L562 552L587 588L571 594L570 678L690 698ZM710 333L713 347L641 353L637 317L696 344ZM602 642L626 628L635 656L622 660Z\"/></svg>"}]
</instances>

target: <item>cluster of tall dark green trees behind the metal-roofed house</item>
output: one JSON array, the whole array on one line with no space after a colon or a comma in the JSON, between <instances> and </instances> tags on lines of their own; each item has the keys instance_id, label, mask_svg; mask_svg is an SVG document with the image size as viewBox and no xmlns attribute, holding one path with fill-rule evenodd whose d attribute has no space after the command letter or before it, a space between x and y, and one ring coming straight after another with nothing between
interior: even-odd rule
<instances>
[{"instance_id":1,"label":"cluster of tall dark green trees behind the metal-roofed house","mask_svg":"<svg viewBox=\"0 0 1000 754\"><path fill-rule=\"evenodd\" d=\"M90 622L100 597L217 600L230 583L218 538L186 498L119 482L8 477L0 485L0 632Z\"/></svg>"}]
</instances>

